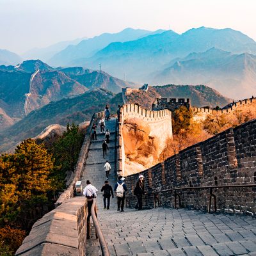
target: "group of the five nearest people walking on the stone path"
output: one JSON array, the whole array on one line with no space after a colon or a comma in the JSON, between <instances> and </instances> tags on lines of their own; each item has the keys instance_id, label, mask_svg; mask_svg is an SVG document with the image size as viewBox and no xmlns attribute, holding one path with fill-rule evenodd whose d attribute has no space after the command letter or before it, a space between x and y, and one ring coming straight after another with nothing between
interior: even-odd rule
<instances>
[{"instance_id":1,"label":"group of the five nearest people walking on the stone path","mask_svg":"<svg viewBox=\"0 0 256 256\"><path fill-rule=\"evenodd\" d=\"M104 165L106 169L106 176L108 179L109 171L111 170L111 166L106 161ZM115 183L114 189L109 185L108 180L104 182L104 186L101 188L101 192L103 192L103 203L104 203L104 210L109 210L110 205L110 198L114 198L114 192L117 198L117 211L124 212L124 202L125 202L125 192L127 192L127 186L124 182L125 177L119 176L118 181ZM89 200L92 198L97 197L97 188L92 186L90 180L86 181L87 186L84 188L83 195ZM136 183L136 187L134 188L134 195L137 196L138 203L135 206L135 209L142 210L142 198L145 195L145 187L144 187L144 176L140 175L139 180ZM88 211L91 209L92 205L88 205Z\"/></svg>"}]
</instances>

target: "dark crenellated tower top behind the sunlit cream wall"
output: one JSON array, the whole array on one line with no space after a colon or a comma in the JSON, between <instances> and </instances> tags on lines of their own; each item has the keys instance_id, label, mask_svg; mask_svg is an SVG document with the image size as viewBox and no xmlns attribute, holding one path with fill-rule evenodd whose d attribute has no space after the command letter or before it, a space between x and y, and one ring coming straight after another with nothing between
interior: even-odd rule
<instances>
[{"instance_id":1,"label":"dark crenellated tower top behind the sunlit cream wall","mask_svg":"<svg viewBox=\"0 0 256 256\"><path fill-rule=\"evenodd\" d=\"M189 109L190 99L159 97L159 98L156 98L156 100L152 104L152 110L169 109L170 111L175 111L175 109L178 109L181 106L185 106L186 108Z\"/></svg>"}]
</instances>

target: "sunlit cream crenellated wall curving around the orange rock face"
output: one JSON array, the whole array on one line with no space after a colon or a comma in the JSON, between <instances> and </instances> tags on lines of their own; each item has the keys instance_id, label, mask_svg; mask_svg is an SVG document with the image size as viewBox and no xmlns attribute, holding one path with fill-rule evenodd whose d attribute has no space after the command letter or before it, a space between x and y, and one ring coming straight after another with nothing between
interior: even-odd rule
<instances>
[{"instance_id":1,"label":"sunlit cream crenellated wall curving around the orange rock face","mask_svg":"<svg viewBox=\"0 0 256 256\"><path fill-rule=\"evenodd\" d=\"M148 111L141 108L137 104L125 104L120 108L120 114L118 116L117 125L117 141L116 141L116 161L117 161L117 172L122 173L125 169L125 152L124 152L124 140L122 136L122 126L127 118L140 118L141 120L147 122L147 124L152 127L153 136L159 136L161 124L168 122L170 124L168 129L170 129L169 134L172 137L172 112L168 109L160 111ZM163 127L162 134L163 132Z\"/></svg>"}]
</instances>

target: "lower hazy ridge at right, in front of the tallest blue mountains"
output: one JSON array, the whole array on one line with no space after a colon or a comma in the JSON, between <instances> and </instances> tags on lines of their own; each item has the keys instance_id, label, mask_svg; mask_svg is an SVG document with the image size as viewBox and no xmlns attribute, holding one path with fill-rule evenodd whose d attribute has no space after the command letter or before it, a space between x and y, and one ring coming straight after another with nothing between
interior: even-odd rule
<instances>
[{"instance_id":1,"label":"lower hazy ridge at right, in front of the tallest blue mountains","mask_svg":"<svg viewBox=\"0 0 256 256\"><path fill-rule=\"evenodd\" d=\"M256 56L253 54L232 54L213 47L175 59L168 66L152 74L152 83L203 83L233 99L256 95Z\"/></svg>"}]
</instances>

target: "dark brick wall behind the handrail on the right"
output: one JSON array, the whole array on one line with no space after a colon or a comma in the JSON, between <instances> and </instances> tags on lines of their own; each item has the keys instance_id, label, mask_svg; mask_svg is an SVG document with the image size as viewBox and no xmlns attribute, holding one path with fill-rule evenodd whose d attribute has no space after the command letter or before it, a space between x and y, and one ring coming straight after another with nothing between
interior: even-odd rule
<instances>
[{"instance_id":1,"label":"dark brick wall behind the handrail on the right","mask_svg":"<svg viewBox=\"0 0 256 256\"><path fill-rule=\"evenodd\" d=\"M185 148L164 163L126 178L134 206L132 191L138 175L145 176L148 195L144 204L154 207L154 194L164 189L179 189L182 207L206 211L210 189L204 186L230 186L256 183L256 120ZM191 188L189 190L180 188ZM248 213L256 216L256 187L212 188L216 196L217 211ZM174 206L175 191L156 194L159 204ZM178 200L178 197L177 197Z\"/></svg>"}]
</instances>

